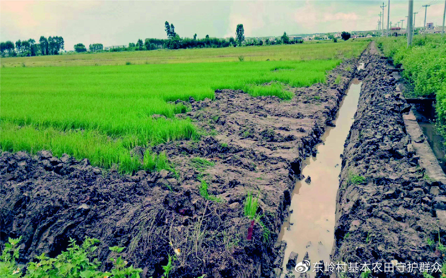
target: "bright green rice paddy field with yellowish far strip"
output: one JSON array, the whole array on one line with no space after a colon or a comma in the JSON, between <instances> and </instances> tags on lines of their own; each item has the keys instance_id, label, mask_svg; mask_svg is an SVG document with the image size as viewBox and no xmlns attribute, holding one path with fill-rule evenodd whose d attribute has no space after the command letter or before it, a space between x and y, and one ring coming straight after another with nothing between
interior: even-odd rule
<instances>
[{"instance_id":1,"label":"bright green rice paddy field with yellowish far strip","mask_svg":"<svg viewBox=\"0 0 446 278\"><path fill-rule=\"evenodd\" d=\"M326 71L358 56L368 41L243 48L154 50L2 58L4 151L48 149L120 172L169 167L164 154L136 146L198 138L201 131L170 101L214 99L215 89L293 97L289 86L325 82ZM243 56L243 61L239 60ZM55 66L58 65L58 66ZM165 117L153 117L161 114Z\"/></svg>"}]
</instances>

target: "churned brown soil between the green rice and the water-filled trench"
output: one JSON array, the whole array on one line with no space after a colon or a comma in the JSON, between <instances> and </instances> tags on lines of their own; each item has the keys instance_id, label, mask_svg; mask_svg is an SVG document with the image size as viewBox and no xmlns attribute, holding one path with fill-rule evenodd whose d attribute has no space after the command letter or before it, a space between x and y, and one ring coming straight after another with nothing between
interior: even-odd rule
<instances>
[{"instance_id":1,"label":"churned brown soil between the green rice and the water-filled trench","mask_svg":"<svg viewBox=\"0 0 446 278\"><path fill-rule=\"evenodd\" d=\"M108 246L127 247L124 257L143 268L144 277L159 277L173 248L180 249L173 277L269 277L273 242L301 161L335 116L355 64L357 59L339 65L326 85L290 88L296 94L291 101L230 90L216 92L215 101L190 99L188 116L218 135L157 146L176 172L119 175L48 151L4 152L1 241L21 235L23 262L42 252L54 256L69 238L89 236L101 241L102 262L108 261ZM257 212L271 231L268 238L255 222L247 240L248 192L259 194Z\"/></svg>"}]
</instances>

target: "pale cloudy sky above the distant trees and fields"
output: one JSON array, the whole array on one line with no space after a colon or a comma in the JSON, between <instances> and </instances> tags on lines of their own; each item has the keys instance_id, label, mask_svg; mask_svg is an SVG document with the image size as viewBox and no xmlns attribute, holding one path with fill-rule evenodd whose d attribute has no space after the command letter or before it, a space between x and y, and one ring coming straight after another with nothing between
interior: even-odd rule
<instances>
[{"instance_id":1,"label":"pale cloudy sky above the distant trees and fields","mask_svg":"<svg viewBox=\"0 0 446 278\"><path fill-rule=\"evenodd\" d=\"M166 38L165 21L182 37L245 37L301 33L362 31L377 28L383 1L0 1L0 40L62 36L65 49L74 44L128 44L139 38ZM441 25L443 0L414 1L415 25ZM388 5L388 1L384 1ZM408 1L390 1L390 20L405 19ZM387 24L387 7L384 8ZM385 26L387 28L387 26Z\"/></svg>"}]
</instances>

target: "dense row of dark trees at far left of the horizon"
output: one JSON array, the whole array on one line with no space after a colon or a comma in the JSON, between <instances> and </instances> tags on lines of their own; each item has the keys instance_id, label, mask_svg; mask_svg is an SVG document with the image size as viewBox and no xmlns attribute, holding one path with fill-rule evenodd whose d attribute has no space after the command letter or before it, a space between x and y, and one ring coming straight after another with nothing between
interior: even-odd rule
<instances>
[{"instance_id":1,"label":"dense row of dark trees at far left of the horizon","mask_svg":"<svg viewBox=\"0 0 446 278\"><path fill-rule=\"evenodd\" d=\"M41 36L39 43L36 40L17 40L14 44L8 40L0 43L0 54L2 57L10 56L37 56L37 55L58 55L65 47L62 36Z\"/></svg>"}]
</instances>

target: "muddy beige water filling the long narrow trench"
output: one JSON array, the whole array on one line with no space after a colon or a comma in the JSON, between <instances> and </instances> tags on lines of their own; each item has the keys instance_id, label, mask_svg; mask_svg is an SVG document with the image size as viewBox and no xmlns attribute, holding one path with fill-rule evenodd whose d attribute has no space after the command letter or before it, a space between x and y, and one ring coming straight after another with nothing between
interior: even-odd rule
<instances>
[{"instance_id":1,"label":"muddy beige water filling the long narrow trench","mask_svg":"<svg viewBox=\"0 0 446 278\"><path fill-rule=\"evenodd\" d=\"M291 252L298 254L296 262L302 262L308 252L312 263L307 271L310 277L315 275L312 272L314 262L330 261L334 242L336 192L341 171L340 154L343 153L344 143L353 123L361 84L357 79L351 82L336 115L336 126L327 127L321 137L324 143L316 146L317 156L308 157L304 161L302 174L305 178L296 182L289 207L293 213L285 219L278 238L279 242L287 242L283 273L288 272L286 264ZM310 184L305 182L308 176L311 177ZM292 271L297 274L294 266Z\"/></svg>"}]
</instances>

